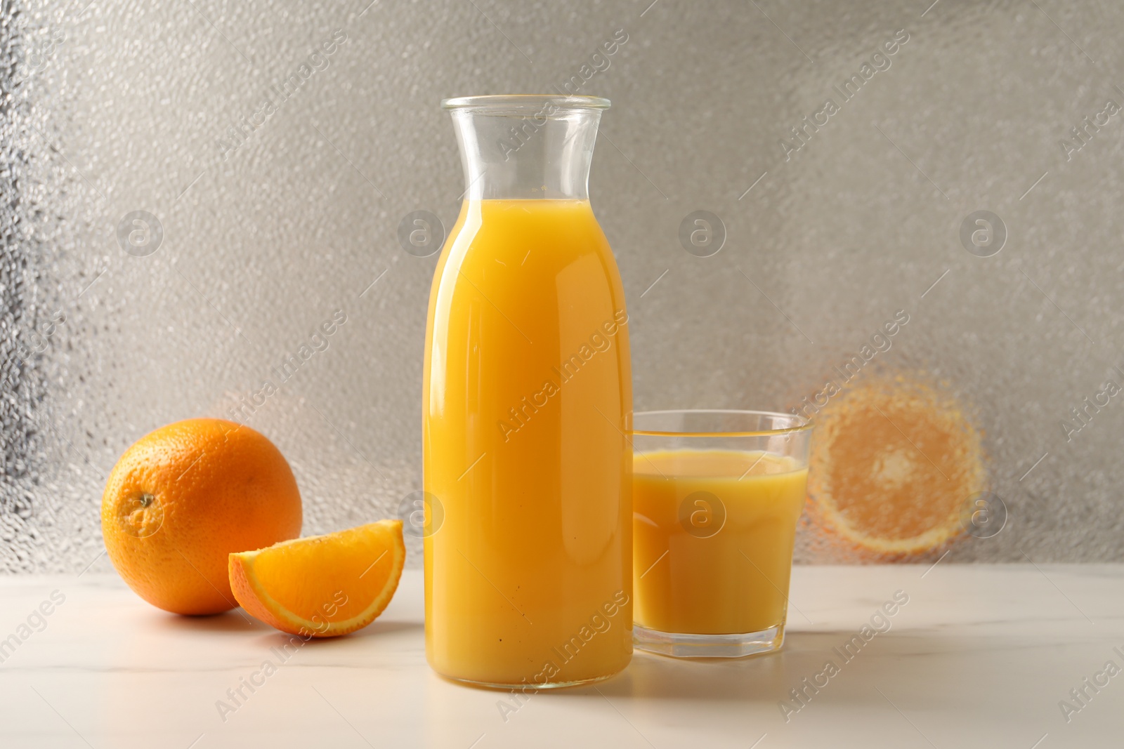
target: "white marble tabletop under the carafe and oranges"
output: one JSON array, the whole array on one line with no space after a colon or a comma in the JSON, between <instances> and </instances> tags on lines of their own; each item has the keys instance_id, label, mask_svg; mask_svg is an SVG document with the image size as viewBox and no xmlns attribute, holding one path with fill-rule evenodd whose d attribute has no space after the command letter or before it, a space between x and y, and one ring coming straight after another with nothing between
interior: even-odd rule
<instances>
[{"instance_id":1,"label":"white marble tabletop under the carafe and oranges","mask_svg":"<svg viewBox=\"0 0 1124 749\"><path fill-rule=\"evenodd\" d=\"M427 668L420 588L407 572L366 630L283 654L241 612L166 614L112 575L0 578L0 638L19 640L0 645L0 747L1124 746L1124 673L1104 670L1124 668L1124 566L798 567L780 654L637 652L596 689L517 710ZM896 591L890 629L843 652ZM794 687L809 696L783 710Z\"/></svg>"}]
</instances>

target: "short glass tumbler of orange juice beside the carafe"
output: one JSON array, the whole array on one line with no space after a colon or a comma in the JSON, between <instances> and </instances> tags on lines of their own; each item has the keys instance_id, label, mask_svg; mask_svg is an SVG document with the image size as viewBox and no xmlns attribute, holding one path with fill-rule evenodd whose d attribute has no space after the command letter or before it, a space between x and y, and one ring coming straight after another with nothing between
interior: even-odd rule
<instances>
[{"instance_id":1,"label":"short glass tumbler of orange juice beside the carafe","mask_svg":"<svg viewBox=\"0 0 1124 749\"><path fill-rule=\"evenodd\" d=\"M778 649L812 424L649 411L633 426L636 647L682 657Z\"/></svg>"}]
</instances>

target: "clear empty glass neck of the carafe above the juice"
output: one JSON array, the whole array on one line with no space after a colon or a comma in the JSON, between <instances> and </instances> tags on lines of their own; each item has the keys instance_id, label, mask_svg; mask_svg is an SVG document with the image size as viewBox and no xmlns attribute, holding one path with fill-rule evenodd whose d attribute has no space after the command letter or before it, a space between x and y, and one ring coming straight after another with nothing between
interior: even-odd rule
<instances>
[{"instance_id":1,"label":"clear empty glass neck of the carafe above the juice","mask_svg":"<svg viewBox=\"0 0 1124 749\"><path fill-rule=\"evenodd\" d=\"M454 109L464 199L589 200L600 109L545 100L526 111Z\"/></svg>"}]
</instances>

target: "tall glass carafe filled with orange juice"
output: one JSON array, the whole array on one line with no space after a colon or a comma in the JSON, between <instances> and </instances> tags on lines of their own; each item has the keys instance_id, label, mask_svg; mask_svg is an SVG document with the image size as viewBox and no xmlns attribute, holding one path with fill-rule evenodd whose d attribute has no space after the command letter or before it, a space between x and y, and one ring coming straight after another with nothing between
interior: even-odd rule
<instances>
[{"instance_id":1,"label":"tall glass carafe filled with orange juice","mask_svg":"<svg viewBox=\"0 0 1124 749\"><path fill-rule=\"evenodd\" d=\"M448 99L466 190L426 325L426 656L542 688L632 658L628 314L593 97Z\"/></svg>"}]
</instances>

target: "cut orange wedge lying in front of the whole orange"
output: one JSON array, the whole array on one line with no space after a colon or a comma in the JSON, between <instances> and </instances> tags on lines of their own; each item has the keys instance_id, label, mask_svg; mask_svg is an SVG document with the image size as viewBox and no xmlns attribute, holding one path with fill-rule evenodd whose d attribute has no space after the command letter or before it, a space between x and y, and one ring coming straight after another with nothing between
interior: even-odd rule
<instances>
[{"instance_id":1,"label":"cut orange wedge lying in front of the whole orange","mask_svg":"<svg viewBox=\"0 0 1124 749\"><path fill-rule=\"evenodd\" d=\"M382 613L402 576L401 520L282 541L229 557L230 590L266 624L301 637L337 637Z\"/></svg>"}]
</instances>

